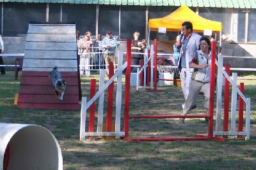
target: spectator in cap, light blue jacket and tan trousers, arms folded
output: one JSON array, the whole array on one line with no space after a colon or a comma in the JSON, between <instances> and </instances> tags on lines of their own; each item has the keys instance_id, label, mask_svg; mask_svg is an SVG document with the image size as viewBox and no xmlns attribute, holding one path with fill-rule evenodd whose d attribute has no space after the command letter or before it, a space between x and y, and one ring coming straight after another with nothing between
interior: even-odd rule
<instances>
[{"instance_id":1,"label":"spectator in cap, light blue jacket and tan trousers, arms folded","mask_svg":"<svg viewBox=\"0 0 256 170\"><path fill-rule=\"evenodd\" d=\"M104 47L104 60L108 76L109 62L112 61L115 66L115 49L117 47L117 40L112 36L111 31L108 31L106 35L107 36L102 40L102 47Z\"/></svg>"}]
</instances>

